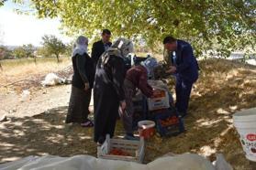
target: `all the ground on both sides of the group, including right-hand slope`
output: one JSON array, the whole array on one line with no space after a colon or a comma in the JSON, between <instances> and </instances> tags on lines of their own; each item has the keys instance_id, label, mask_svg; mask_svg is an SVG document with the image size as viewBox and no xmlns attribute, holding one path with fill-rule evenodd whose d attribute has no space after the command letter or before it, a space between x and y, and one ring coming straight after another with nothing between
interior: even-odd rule
<instances>
[{"instance_id":1,"label":"all the ground on both sides of the group, including right-hand slope","mask_svg":"<svg viewBox=\"0 0 256 170\"><path fill-rule=\"evenodd\" d=\"M211 161L222 153L234 169L250 170L232 114L256 107L256 68L224 59L200 61L200 68L184 119L186 132L171 138L155 135L147 142L145 162L170 152L202 154ZM169 87L173 91L172 79ZM0 115L9 118L0 122L0 163L28 155L96 155L93 129L63 122L70 89L70 85L34 88L23 101L15 91L0 94ZM117 122L116 135L123 134Z\"/></svg>"}]
</instances>

